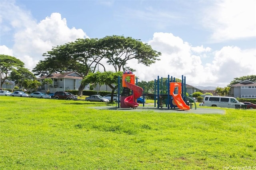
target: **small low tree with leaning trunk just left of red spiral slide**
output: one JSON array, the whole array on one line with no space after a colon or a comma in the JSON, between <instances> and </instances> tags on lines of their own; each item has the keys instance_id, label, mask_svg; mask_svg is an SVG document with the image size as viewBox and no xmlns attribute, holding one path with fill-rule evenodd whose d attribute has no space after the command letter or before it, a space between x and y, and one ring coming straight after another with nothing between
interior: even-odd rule
<instances>
[{"instance_id":1,"label":"small low tree with leaning trunk just left of red spiral slide","mask_svg":"<svg viewBox=\"0 0 256 170\"><path fill-rule=\"evenodd\" d=\"M86 85L88 83L99 83L100 85L107 84L111 89L111 100L113 102L113 94L115 90L118 88L118 76L122 76L123 72L112 72L112 71L105 71L105 72L96 72L88 74L83 80L82 84ZM113 86L115 84L116 86Z\"/></svg>"}]
</instances>

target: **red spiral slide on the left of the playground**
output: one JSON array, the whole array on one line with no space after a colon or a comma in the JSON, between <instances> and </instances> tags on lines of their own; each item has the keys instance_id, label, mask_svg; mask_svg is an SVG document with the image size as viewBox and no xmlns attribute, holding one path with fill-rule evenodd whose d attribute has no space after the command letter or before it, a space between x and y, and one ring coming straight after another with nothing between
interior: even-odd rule
<instances>
[{"instance_id":1,"label":"red spiral slide on the left of the playground","mask_svg":"<svg viewBox=\"0 0 256 170\"><path fill-rule=\"evenodd\" d=\"M130 88L133 91L133 94L124 99L124 104L132 108L138 107L139 104L136 102L136 99L138 99L142 95L143 88L136 86L134 84L131 84L129 82L125 82L125 84L126 84L126 87Z\"/></svg>"}]
</instances>

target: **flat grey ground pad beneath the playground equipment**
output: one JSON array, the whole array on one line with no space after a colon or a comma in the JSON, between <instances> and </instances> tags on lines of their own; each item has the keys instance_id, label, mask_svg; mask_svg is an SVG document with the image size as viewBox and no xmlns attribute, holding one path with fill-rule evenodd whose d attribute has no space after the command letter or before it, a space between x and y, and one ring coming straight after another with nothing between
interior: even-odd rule
<instances>
[{"instance_id":1,"label":"flat grey ground pad beneath the playground equipment","mask_svg":"<svg viewBox=\"0 0 256 170\"><path fill-rule=\"evenodd\" d=\"M194 114L225 114L225 110L222 109L211 109L211 108L203 108L197 107L196 109L190 110L181 110L178 108L175 109L168 109L166 107L157 108L154 106L144 106L144 107L137 107L136 109L132 108L118 108L115 106L100 106L100 107L90 107L97 110L116 110L116 111L154 111L159 113L194 113Z\"/></svg>"}]
</instances>

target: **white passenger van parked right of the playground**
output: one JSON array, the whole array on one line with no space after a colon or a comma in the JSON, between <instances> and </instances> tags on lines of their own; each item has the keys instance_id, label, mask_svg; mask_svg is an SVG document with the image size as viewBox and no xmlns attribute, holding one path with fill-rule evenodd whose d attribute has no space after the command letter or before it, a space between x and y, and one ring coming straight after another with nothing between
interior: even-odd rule
<instances>
[{"instance_id":1,"label":"white passenger van parked right of the playground","mask_svg":"<svg viewBox=\"0 0 256 170\"><path fill-rule=\"evenodd\" d=\"M204 96L204 106L236 108L235 105L240 105L241 107L244 104L232 97Z\"/></svg>"}]
</instances>

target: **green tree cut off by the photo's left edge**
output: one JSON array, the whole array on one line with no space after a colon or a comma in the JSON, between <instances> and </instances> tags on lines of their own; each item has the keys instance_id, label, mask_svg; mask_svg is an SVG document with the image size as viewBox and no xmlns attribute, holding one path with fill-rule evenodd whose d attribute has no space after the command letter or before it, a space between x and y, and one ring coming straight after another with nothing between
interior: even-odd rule
<instances>
[{"instance_id":1,"label":"green tree cut off by the photo's left edge","mask_svg":"<svg viewBox=\"0 0 256 170\"><path fill-rule=\"evenodd\" d=\"M5 80L8 80L10 73L13 70L21 69L24 67L24 63L16 57L10 55L0 55L0 87L4 84Z\"/></svg>"}]
</instances>

